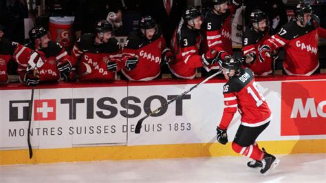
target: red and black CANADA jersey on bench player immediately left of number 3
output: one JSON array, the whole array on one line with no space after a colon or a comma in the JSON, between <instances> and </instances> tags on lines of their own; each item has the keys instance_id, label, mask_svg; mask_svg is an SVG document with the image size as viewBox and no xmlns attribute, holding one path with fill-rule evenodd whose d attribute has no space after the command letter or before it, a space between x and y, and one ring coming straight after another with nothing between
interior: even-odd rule
<instances>
[{"instance_id":1,"label":"red and black CANADA jersey on bench player immediately left of number 3","mask_svg":"<svg viewBox=\"0 0 326 183\"><path fill-rule=\"evenodd\" d=\"M166 48L165 40L160 30L153 39L146 39L140 32L131 32L123 50L122 63L124 64L131 56L138 56L137 66L128 70L122 67L121 72L129 80L153 80L161 73L160 63L162 51Z\"/></svg>"}]
</instances>

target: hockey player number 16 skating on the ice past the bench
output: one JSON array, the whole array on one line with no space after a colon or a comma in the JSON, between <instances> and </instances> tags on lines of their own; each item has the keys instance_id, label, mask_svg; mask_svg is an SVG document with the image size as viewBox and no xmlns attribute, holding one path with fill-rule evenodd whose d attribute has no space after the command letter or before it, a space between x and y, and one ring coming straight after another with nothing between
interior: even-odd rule
<instances>
[{"instance_id":1,"label":"hockey player number 16 skating on the ice past the bench","mask_svg":"<svg viewBox=\"0 0 326 183\"><path fill-rule=\"evenodd\" d=\"M221 144L228 142L226 131L238 109L241 125L232 142L232 149L252 158L248 166L261 167L260 172L266 175L279 163L274 155L267 153L265 149L261 151L256 142L259 134L270 124L270 108L258 90L252 70L241 67L241 58L227 57L221 67L228 83L223 87L225 107L221 122L217 126L217 141Z\"/></svg>"}]
</instances>

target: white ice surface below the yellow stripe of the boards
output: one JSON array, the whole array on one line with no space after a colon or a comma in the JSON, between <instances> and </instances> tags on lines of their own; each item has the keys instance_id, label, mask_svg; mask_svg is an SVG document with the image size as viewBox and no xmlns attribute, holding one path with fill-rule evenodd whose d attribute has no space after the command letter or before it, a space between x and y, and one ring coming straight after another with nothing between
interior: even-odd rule
<instances>
[{"instance_id":1,"label":"white ice surface below the yellow stripe of the boards","mask_svg":"<svg viewBox=\"0 0 326 183\"><path fill-rule=\"evenodd\" d=\"M326 154L276 155L270 174L242 156L0 166L0 182L326 182Z\"/></svg>"}]
</instances>

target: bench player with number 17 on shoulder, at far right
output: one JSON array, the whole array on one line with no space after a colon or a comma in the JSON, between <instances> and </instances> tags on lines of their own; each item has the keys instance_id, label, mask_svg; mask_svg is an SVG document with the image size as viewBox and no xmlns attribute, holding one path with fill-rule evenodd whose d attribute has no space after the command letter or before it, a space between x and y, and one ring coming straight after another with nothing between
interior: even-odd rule
<instances>
[{"instance_id":1,"label":"bench player with number 17 on shoulder, at far right","mask_svg":"<svg viewBox=\"0 0 326 183\"><path fill-rule=\"evenodd\" d=\"M313 14L312 7L305 3L296 6L295 17L295 21L283 25L279 33L264 42L259 50L259 60L267 60L271 52L284 47L283 69L287 75L320 73L318 37L326 38L326 30L318 26L318 17Z\"/></svg>"}]
</instances>

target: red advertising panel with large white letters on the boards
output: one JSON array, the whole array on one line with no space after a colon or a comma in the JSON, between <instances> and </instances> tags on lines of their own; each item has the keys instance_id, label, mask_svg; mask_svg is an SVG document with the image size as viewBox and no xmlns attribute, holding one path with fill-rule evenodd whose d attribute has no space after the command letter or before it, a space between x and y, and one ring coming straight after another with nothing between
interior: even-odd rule
<instances>
[{"instance_id":1,"label":"red advertising panel with large white letters on the boards","mask_svg":"<svg viewBox=\"0 0 326 183\"><path fill-rule=\"evenodd\" d=\"M282 83L281 136L326 134L326 81Z\"/></svg>"}]
</instances>

